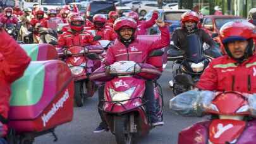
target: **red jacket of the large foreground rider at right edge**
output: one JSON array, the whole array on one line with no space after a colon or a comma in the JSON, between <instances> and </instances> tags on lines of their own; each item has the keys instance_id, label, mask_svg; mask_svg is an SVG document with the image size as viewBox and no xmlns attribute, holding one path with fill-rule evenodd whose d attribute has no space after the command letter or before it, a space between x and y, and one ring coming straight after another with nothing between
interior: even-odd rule
<instances>
[{"instance_id":1,"label":"red jacket of the large foreground rider at right edge","mask_svg":"<svg viewBox=\"0 0 256 144\"><path fill-rule=\"evenodd\" d=\"M238 91L256 93L256 56L241 64L230 57L212 60L197 83L202 90Z\"/></svg>"}]
</instances>

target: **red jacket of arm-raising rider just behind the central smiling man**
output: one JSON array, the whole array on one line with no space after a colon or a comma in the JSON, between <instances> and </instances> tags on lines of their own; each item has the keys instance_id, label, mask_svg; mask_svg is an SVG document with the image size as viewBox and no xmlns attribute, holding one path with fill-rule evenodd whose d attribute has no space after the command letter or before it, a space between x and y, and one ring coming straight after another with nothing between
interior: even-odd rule
<instances>
[{"instance_id":1,"label":"red jacket of arm-raising rider just behind the central smiling man","mask_svg":"<svg viewBox=\"0 0 256 144\"><path fill-rule=\"evenodd\" d=\"M138 21L137 27L137 35L147 35L147 28L152 27L155 25L155 20L157 20L158 14L153 13L152 18L148 21Z\"/></svg>"}]
</instances>

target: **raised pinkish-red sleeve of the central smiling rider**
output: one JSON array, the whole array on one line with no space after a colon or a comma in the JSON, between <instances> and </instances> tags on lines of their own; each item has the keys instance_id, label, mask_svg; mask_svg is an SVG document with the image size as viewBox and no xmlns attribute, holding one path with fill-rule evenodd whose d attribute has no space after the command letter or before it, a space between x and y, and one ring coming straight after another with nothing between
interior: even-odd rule
<instances>
[{"instance_id":1,"label":"raised pinkish-red sleeve of the central smiling rider","mask_svg":"<svg viewBox=\"0 0 256 144\"><path fill-rule=\"evenodd\" d=\"M159 27L161 31L161 39L152 42L152 45L149 47L149 51L154 49L161 49L162 47L166 47L170 44L170 35L167 26Z\"/></svg>"}]
</instances>

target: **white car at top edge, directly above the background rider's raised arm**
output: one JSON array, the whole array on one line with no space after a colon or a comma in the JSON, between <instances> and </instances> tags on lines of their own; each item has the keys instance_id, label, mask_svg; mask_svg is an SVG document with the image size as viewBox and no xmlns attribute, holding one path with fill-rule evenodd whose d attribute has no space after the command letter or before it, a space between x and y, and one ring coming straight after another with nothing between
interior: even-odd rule
<instances>
[{"instance_id":1,"label":"white car at top edge, directly above the background rider's raised arm","mask_svg":"<svg viewBox=\"0 0 256 144\"><path fill-rule=\"evenodd\" d=\"M142 4L140 4L138 8L138 13L141 16L145 16L147 13L149 13L149 11L157 8L158 8L158 4L156 1L147 1L147 2L144 1Z\"/></svg>"}]
</instances>

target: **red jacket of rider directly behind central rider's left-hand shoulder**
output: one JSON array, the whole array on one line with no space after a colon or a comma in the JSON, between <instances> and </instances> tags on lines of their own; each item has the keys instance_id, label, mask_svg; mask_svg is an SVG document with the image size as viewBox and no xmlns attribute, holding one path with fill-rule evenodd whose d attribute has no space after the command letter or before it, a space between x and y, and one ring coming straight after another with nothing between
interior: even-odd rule
<instances>
[{"instance_id":1,"label":"red jacket of rider directly behind central rider's left-hand shoulder","mask_svg":"<svg viewBox=\"0 0 256 144\"><path fill-rule=\"evenodd\" d=\"M104 26L100 30L95 29L94 27L87 28L87 30L95 30L96 35L101 35L102 40L110 40L113 41L116 39L116 32L114 32L113 28L109 26Z\"/></svg>"}]
</instances>

